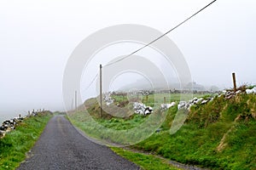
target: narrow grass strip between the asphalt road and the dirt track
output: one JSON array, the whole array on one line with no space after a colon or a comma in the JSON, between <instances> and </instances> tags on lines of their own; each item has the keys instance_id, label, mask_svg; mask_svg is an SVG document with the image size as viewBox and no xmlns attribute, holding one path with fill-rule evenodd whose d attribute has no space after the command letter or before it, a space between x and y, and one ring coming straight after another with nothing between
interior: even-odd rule
<instances>
[{"instance_id":1,"label":"narrow grass strip between the asphalt road and the dirt track","mask_svg":"<svg viewBox=\"0 0 256 170\"><path fill-rule=\"evenodd\" d=\"M160 159L155 156L150 156L142 153L134 153L129 150L124 150L122 148L111 148L119 156L123 156L126 159L136 163L138 166L147 170L177 170L177 167L172 167L166 160Z\"/></svg>"}]
</instances>

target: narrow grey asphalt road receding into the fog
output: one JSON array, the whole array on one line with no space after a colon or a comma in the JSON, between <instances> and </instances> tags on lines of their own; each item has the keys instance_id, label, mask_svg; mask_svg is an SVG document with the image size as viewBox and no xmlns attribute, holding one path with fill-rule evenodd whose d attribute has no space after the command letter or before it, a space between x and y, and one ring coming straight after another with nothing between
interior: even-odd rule
<instances>
[{"instance_id":1,"label":"narrow grey asphalt road receding into the fog","mask_svg":"<svg viewBox=\"0 0 256 170\"><path fill-rule=\"evenodd\" d=\"M140 169L107 146L85 139L64 116L54 116L17 169Z\"/></svg>"}]
</instances>

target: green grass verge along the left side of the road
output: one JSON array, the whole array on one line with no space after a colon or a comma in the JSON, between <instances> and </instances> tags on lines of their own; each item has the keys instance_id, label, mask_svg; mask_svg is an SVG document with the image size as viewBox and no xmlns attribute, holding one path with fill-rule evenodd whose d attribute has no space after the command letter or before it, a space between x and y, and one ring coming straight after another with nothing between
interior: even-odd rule
<instances>
[{"instance_id":1,"label":"green grass verge along the left side of the road","mask_svg":"<svg viewBox=\"0 0 256 170\"><path fill-rule=\"evenodd\" d=\"M0 169L15 169L38 140L51 115L32 116L0 139Z\"/></svg>"}]
</instances>

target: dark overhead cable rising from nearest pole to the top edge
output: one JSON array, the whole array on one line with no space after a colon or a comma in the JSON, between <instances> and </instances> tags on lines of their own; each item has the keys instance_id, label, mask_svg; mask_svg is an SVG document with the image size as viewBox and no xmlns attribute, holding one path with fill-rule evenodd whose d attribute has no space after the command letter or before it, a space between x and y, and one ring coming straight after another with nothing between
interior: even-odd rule
<instances>
[{"instance_id":1,"label":"dark overhead cable rising from nearest pole to the top edge","mask_svg":"<svg viewBox=\"0 0 256 170\"><path fill-rule=\"evenodd\" d=\"M215 3L217 0L212 1L212 3ZM113 63L109 63L108 65L104 65L104 66L109 66L109 65L113 65L115 63L118 63L121 60L127 59L128 57L130 57L133 54L136 54L138 51L142 50L143 48L148 47L150 44L158 41L160 38L165 37L167 34L169 34L171 31L177 29L177 27L182 26L185 22L187 22L188 20L190 20L191 18L193 18L196 14L201 13L201 11L203 11L205 8L209 7L210 5L212 5L212 3L208 3L207 6L205 6L204 8L201 8L199 11L197 11L195 14L192 14L189 18L187 18L186 20L183 20L183 22L181 22L180 24L178 24L177 26L174 26L171 30L166 31L166 33L164 33L163 35L161 35L160 37L157 37L156 39L154 39L152 42L148 42L146 45L144 45L142 48L138 48L136 51L132 52L131 54L126 55L125 57L118 59L116 61L114 61Z\"/></svg>"}]
</instances>

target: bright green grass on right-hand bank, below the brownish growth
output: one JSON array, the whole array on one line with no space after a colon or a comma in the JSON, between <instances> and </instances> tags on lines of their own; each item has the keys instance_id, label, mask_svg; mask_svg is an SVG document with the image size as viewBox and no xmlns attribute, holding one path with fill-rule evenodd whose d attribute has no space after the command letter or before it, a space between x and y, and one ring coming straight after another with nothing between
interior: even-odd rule
<instances>
[{"instance_id":1,"label":"bright green grass on right-hand bank, below the brownish growth","mask_svg":"<svg viewBox=\"0 0 256 170\"><path fill-rule=\"evenodd\" d=\"M212 169L255 169L256 123L237 125L236 131L228 135L225 148L218 151L218 145L229 127L225 123L206 129L186 124L172 136L164 131L133 147L170 160Z\"/></svg>"}]
</instances>

